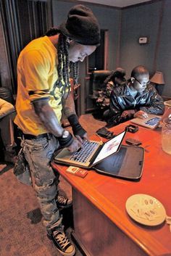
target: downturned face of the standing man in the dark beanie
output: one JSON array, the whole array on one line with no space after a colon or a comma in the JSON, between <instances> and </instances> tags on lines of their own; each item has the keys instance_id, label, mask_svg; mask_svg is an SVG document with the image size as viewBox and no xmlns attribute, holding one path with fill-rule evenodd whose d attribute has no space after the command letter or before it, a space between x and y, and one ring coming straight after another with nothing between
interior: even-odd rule
<instances>
[{"instance_id":1,"label":"downturned face of the standing man in the dark beanie","mask_svg":"<svg viewBox=\"0 0 171 256\"><path fill-rule=\"evenodd\" d=\"M85 46L75 41L70 41L69 60L70 62L83 62L83 60L95 50L96 46Z\"/></svg>"}]
</instances>

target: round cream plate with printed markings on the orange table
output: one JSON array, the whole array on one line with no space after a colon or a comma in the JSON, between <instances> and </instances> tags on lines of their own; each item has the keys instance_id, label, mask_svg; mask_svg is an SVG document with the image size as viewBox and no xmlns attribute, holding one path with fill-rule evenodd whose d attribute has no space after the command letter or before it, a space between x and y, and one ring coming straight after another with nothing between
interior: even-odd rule
<instances>
[{"instance_id":1,"label":"round cream plate with printed markings on the orange table","mask_svg":"<svg viewBox=\"0 0 171 256\"><path fill-rule=\"evenodd\" d=\"M134 194L129 197L126 210L133 220L147 226L157 226L166 219L162 203L148 194Z\"/></svg>"}]
</instances>

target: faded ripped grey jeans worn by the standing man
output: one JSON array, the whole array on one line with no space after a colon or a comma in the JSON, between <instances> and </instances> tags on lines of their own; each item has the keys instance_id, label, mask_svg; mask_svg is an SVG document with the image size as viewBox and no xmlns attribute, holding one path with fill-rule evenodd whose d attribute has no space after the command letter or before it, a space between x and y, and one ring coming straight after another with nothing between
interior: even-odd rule
<instances>
[{"instance_id":1,"label":"faded ripped grey jeans worn by the standing man","mask_svg":"<svg viewBox=\"0 0 171 256\"><path fill-rule=\"evenodd\" d=\"M57 197L57 185L59 174L54 173L50 162L59 143L54 136L40 139L23 139L21 142L25 159L28 161L38 202L43 215L43 225L48 232L51 226L62 226L62 216L59 215L55 197Z\"/></svg>"}]
</instances>

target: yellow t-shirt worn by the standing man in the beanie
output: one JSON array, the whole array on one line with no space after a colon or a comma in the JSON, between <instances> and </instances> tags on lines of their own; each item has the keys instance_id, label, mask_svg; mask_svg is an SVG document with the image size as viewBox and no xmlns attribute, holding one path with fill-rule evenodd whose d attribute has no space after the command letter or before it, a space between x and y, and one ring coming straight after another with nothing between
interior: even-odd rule
<instances>
[{"instance_id":1,"label":"yellow t-shirt worn by the standing man in the beanie","mask_svg":"<svg viewBox=\"0 0 171 256\"><path fill-rule=\"evenodd\" d=\"M17 117L14 123L23 133L48 133L36 115L32 102L49 99L49 105L60 123L62 116L62 89L57 86L57 49L47 36L30 42L17 61Z\"/></svg>"}]
</instances>

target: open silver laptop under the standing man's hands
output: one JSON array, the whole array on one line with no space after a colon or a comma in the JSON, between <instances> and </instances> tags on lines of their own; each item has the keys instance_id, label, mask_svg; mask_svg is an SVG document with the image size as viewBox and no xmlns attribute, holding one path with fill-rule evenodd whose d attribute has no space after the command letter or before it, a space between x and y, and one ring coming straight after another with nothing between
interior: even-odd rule
<instances>
[{"instance_id":1,"label":"open silver laptop under the standing man's hands","mask_svg":"<svg viewBox=\"0 0 171 256\"><path fill-rule=\"evenodd\" d=\"M75 153L71 153L67 148L64 148L57 152L54 162L80 168L92 168L98 162L120 150L125 133L126 131L122 131L122 133L105 143L102 141L85 141L83 147Z\"/></svg>"}]
</instances>

